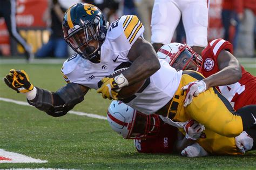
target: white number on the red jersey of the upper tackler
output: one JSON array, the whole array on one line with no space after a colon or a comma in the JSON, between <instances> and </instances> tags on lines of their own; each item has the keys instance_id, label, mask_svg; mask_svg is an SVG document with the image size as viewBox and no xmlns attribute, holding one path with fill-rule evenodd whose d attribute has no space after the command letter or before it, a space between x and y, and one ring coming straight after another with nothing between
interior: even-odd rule
<instances>
[{"instance_id":1,"label":"white number on the red jersey of the upper tackler","mask_svg":"<svg viewBox=\"0 0 256 170\"><path fill-rule=\"evenodd\" d=\"M241 84L237 82L227 86L219 86L219 90L221 94L223 94L223 96L227 98L227 100L230 101L231 105L234 107L234 102L232 102L232 99L236 93L241 94L243 91L245 91L245 85L241 86Z\"/></svg>"}]
</instances>

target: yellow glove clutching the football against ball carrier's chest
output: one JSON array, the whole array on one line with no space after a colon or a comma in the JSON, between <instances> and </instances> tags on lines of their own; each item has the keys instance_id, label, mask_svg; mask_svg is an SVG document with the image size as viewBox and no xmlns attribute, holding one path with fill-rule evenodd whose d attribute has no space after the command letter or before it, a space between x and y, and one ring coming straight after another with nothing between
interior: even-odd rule
<instances>
[{"instance_id":1,"label":"yellow glove clutching the football against ball carrier's chest","mask_svg":"<svg viewBox=\"0 0 256 170\"><path fill-rule=\"evenodd\" d=\"M102 97L104 99L114 99L117 100L117 94L118 94L118 85L116 81L114 81L114 78L104 77L102 79L102 86L97 90L97 93L102 93Z\"/></svg>"}]
</instances>

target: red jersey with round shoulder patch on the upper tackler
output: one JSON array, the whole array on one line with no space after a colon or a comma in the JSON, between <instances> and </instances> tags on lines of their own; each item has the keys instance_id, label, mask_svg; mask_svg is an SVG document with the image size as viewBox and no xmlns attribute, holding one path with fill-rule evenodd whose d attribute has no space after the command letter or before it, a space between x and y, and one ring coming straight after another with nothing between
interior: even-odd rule
<instances>
[{"instance_id":1,"label":"red jersey with round shoulder patch on the upper tackler","mask_svg":"<svg viewBox=\"0 0 256 170\"><path fill-rule=\"evenodd\" d=\"M202 73L209 77L219 71L218 56L221 50L227 50L233 53L233 46L224 39L215 39L208 44L202 52L203 68ZM223 96L232 104L235 110L246 106L256 104L256 77L248 73L244 67L242 69L242 78L234 84L219 86Z\"/></svg>"}]
</instances>

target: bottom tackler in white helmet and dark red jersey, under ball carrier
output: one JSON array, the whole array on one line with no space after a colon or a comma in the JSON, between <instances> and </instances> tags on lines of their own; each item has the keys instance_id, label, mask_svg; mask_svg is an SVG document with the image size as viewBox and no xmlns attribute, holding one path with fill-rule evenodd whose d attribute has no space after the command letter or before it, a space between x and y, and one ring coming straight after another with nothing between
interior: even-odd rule
<instances>
[{"instance_id":1,"label":"bottom tackler in white helmet and dark red jersey, under ball carrier","mask_svg":"<svg viewBox=\"0 0 256 170\"><path fill-rule=\"evenodd\" d=\"M164 117L140 113L117 100L108 108L107 121L123 138L134 139L137 151L142 153L176 153L177 127L186 124L173 122L171 126L165 123Z\"/></svg>"}]
</instances>

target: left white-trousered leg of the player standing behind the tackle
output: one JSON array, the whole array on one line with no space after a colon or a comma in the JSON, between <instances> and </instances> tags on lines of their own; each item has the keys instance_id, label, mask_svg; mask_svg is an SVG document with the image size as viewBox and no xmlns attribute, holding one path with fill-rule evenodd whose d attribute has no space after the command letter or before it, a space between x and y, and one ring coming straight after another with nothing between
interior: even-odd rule
<instances>
[{"instance_id":1,"label":"left white-trousered leg of the player standing behind the tackle","mask_svg":"<svg viewBox=\"0 0 256 170\"><path fill-rule=\"evenodd\" d=\"M151 43L156 51L171 42L173 33L180 20L180 10L167 0L154 1L151 19Z\"/></svg>"}]
</instances>

